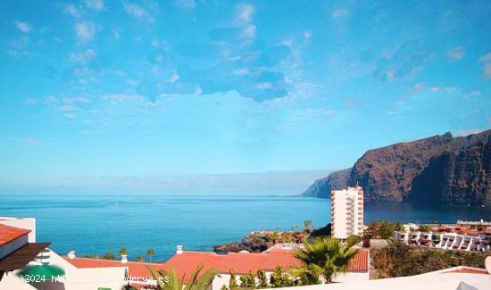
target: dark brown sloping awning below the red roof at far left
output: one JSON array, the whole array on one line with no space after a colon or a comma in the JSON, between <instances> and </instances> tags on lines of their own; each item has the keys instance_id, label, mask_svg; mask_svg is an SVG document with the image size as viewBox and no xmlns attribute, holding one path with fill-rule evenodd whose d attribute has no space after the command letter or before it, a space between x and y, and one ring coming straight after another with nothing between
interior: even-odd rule
<instances>
[{"instance_id":1,"label":"dark brown sloping awning below the red roof at far left","mask_svg":"<svg viewBox=\"0 0 491 290\"><path fill-rule=\"evenodd\" d=\"M0 260L0 271L22 269L51 243L29 243Z\"/></svg>"}]
</instances>

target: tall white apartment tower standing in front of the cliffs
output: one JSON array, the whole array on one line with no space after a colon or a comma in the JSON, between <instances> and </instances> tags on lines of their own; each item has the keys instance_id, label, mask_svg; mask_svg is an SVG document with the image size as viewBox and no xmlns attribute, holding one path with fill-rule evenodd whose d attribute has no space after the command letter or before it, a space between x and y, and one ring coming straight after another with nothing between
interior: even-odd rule
<instances>
[{"instance_id":1,"label":"tall white apartment tower standing in front of the cliffs","mask_svg":"<svg viewBox=\"0 0 491 290\"><path fill-rule=\"evenodd\" d=\"M345 239L351 235L363 234L363 189L362 186L331 190L332 236Z\"/></svg>"}]
</instances>

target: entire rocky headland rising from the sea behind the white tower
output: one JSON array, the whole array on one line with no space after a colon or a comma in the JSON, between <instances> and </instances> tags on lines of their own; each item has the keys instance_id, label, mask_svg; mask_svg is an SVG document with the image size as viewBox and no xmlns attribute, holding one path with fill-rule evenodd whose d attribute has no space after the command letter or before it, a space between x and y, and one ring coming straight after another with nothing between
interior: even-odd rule
<instances>
[{"instance_id":1,"label":"entire rocky headland rising from the sea behind the white tower","mask_svg":"<svg viewBox=\"0 0 491 290\"><path fill-rule=\"evenodd\" d=\"M332 187L356 183L367 200L491 204L491 129L369 150L353 168L316 180L303 195L329 198Z\"/></svg>"}]
</instances>

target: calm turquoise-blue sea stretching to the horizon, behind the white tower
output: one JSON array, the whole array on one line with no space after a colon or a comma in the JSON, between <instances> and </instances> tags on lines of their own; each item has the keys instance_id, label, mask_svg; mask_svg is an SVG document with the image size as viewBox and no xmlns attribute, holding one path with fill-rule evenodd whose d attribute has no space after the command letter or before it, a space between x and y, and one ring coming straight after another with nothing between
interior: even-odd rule
<instances>
[{"instance_id":1,"label":"calm turquoise-blue sea stretching to the horizon, behind the white tower","mask_svg":"<svg viewBox=\"0 0 491 290\"><path fill-rule=\"evenodd\" d=\"M52 242L62 254L117 253L166 260L176 244L185 250L212 251L215 244L234 242L257 229L303 228L329 223L330 201L293 196L62 196L0 195L0 216L35 217L37 241ZM370 220L450 223L491 220L491 208L412 206L366 203Z\"/></svg>"}]
</instances>

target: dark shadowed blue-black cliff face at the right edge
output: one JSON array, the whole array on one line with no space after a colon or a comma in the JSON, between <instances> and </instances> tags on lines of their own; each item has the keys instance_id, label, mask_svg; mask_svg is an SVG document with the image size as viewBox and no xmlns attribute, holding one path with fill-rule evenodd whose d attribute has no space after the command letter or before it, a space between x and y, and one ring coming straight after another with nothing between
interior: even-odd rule
<instances>
[{"instance_id":1,"label":"dark shadowed blue-black cliff face at the right edge","mask_svg":"<svg viewBox=\"0 0 491 290\"><path fill-rule=\"evenodd\" d=\"M480 205L491 203L491 141L460 153L442 153L412 180L410 202Z\"/></svg>"}]
</instances>

